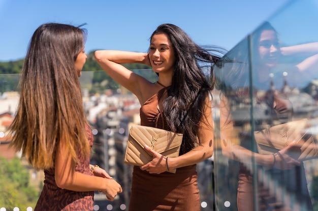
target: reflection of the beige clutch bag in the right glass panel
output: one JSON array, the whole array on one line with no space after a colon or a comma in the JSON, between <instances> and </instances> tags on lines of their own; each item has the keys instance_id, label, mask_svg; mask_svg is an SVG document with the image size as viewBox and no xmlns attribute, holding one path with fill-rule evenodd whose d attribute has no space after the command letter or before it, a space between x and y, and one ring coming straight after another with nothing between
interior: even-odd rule
<instances>
[{"instance_id":1,"label":"reflection of the beige clutch bag in the right glass panel","mask_svg":"<svg viewBox=\"0 0 318 211\"><path fill-rule=\"evenodd\" d=\"M296 146L289 150L291 157L301 161L317 157L316 140L306 118L254 132L254 137L260 154L276 153L296 141Z\"/></svg>"}]
</instances>

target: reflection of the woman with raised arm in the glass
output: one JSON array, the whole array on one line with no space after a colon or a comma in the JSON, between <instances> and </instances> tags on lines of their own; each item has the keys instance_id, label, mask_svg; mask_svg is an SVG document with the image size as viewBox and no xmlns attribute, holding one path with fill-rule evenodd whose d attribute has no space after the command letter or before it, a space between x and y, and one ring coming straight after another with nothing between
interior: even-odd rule
<instances>
[{"instance_id":1,"label":"reflection of the woman with raised arm in the glass","mask_svg":"<svg viewBox=\"0 0 318 211\"><path fill-rule=\"evenodd\" d=\"M225 72L226 65L230 65L230 70L223 76L225 88L221 88L222 153L240 162L238 210L312 210L303 163L289 153L293 144L274 154L260 154L256 143L251 142L254 140L251 130L258 131L292 120L293 104L284 90L276 87L286 86L284 76L287 74L292 85L312 76L318 64L318 43L280 47L278 34L268 22L252 33L250 40L250 53L246 39L227 55L231 62L224 64ZM306 57L295 64L285 58L299 55ZM252 84L248 82L250 79ZM252 102L250 95L253 96ZM242 115L244 112L247 115ZM257 177L253 177L251 160L257 165L254 172Z\"/></svg>"}]
</instances>

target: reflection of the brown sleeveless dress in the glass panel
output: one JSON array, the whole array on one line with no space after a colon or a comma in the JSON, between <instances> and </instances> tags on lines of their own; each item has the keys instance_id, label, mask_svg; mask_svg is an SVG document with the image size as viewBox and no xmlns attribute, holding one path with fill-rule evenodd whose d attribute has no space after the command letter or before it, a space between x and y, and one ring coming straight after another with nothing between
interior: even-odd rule
<instances>
[{"instance_id":1,"label":"reflection of the brown sleeveless dress in the glass panel","mask_svg":"<svg viewBox=\"0 0 318 211\"><path fill-rule=\"evenodd\" d=\"M273 108L277 118L282 122L290 121L292 104L289 100L274 96L276 106ZM272 103L271 103L272 105ZM258 166L258 170L262 166ZM255 210L253 197L256 196L257 210L262 211L312 211L312 203L307 188L307 181L303 163L291 170L279 170L276 168L264 171L271 176L271 182L275 191L271 191L262 181L258 181L257 187L253 186L252 173L241 163L239 171L239 185L237 192L237 204L239 211ZM263 174L264 174L263 173ZM283 188L284 191L279 191ZM256 192L254 192L256 190Z\"/></svg>"}]
</instances>

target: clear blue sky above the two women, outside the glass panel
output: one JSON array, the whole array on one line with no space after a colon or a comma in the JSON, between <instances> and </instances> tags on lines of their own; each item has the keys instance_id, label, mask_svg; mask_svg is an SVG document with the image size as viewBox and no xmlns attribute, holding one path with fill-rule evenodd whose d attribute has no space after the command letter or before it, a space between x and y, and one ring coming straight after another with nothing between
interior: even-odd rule
<instances>
[{"instance_id":1,"label":"clear blue sky above the two women, outside the glass panel","mask_svg":"<svg viewBox=\"0 0 318 211\"><path fill-rule=\"evenodd\" d=\"M24 58L31 35L47 22L86 23L85 50L146 52L162 23L181 27L199 45L227 50L288 0L0 0L0 61Z\"/></svg>"}]
</instances>

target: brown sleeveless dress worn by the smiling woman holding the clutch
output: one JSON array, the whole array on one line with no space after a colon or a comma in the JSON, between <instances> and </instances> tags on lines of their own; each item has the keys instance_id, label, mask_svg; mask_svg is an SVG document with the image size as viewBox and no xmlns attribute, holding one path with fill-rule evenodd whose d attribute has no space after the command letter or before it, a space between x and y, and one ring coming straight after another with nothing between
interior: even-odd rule
<instances>
[{"instance_id":1,"label":"brown sleeveless dress worn by the smiling woman holding the clutch","mask_svg":"<svg viewBox=\"0 0 318 211\"><path fill-rule=\"evenodd\" d=\"M166 88L140 108L141 125L169 130L158 103L167 98ZM134 166L130 211L200 210L196 165L177 168L176 174L149 174Z\"/></svg>"}]
</instances>

